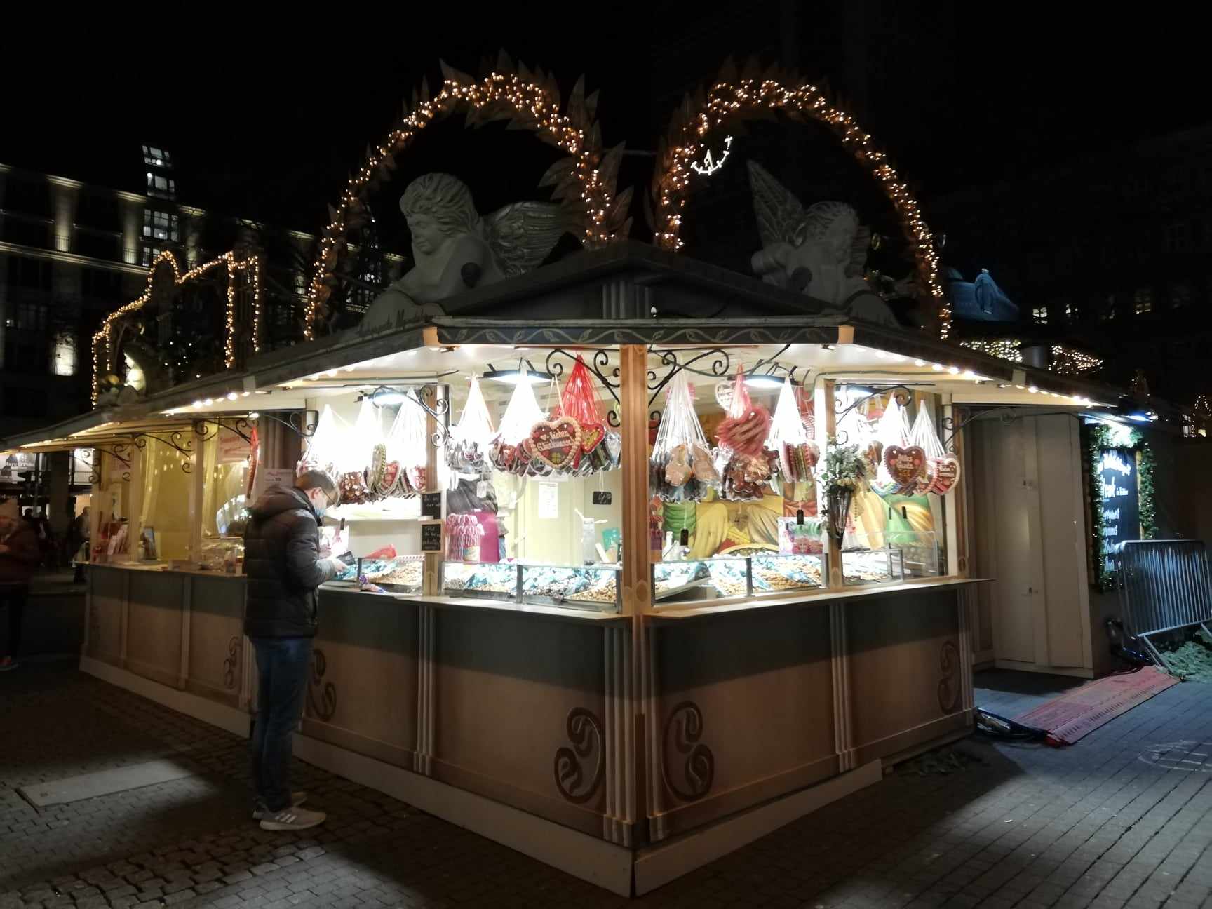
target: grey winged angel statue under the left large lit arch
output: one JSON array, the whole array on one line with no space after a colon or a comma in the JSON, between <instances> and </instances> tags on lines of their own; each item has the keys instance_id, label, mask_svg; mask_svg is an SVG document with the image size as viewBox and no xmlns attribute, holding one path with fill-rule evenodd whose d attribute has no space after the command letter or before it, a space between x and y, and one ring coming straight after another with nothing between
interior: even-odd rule
<instances>
[{"instance_id":1,"label":"grey winged angel statue under the left large lit arch","mask_svg":"<svg viewBox=\"0 0 1212 909\"><path fill-rule=\"evenodd\" d=\"M555 202L514 202L480 217L471 190L448 173L417 177L400 196L413 267L376 297L361 331L399 328L441 315L441 301L520 275L541 263L571 224Z\"/></svg>"}]
</instances>

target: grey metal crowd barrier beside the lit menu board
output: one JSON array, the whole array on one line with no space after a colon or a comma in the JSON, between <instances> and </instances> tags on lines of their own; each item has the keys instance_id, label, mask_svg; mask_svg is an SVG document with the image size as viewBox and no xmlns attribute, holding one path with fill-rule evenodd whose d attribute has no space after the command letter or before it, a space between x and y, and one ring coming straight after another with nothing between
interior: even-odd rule
<instances>
[{"instance_id":1,"label":"grey metal crowd barrier beside the lit menu board","mask_svg":"<svg viewBox=\"0 0 1212 909\"><path fill-rule=\"evenodd\" d=\"M1212 622L1212 573L1201 539L1133 539L1119 554L1125 630L1165 658L1149 635Z\"/></svg>"}]
</instances>

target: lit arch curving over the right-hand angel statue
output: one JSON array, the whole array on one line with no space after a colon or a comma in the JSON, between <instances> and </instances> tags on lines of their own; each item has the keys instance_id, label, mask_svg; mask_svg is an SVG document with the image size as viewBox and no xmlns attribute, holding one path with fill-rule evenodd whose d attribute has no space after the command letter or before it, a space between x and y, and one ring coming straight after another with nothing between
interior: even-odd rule
<instances>
[{"instance_id":1,"label":"lit arch curving over the right-hand angel statue","mask_svg":"<svg viewBox=\"0 0 1212 909\"><path fill-rule=\"evenodd\" d=\"M951 328L951 307L938 282L938 251L917 201L854 119L831 107L821 90L794 73L771 69L760 75L750 64L745 74L738 76L730 63L705 96L699 90L694 98L684 99L657 152L657 171L652 178L656 245L674 252L682 246L682 208L691 181L698 177L692 164L703 155L708 136L716 131L727 133L738 121L770 112L781 112L800 122L812 119L824 124L879 182L913 246L917 278L938 305L939 336L945 338Z\"/></svg>"}]
</instances>

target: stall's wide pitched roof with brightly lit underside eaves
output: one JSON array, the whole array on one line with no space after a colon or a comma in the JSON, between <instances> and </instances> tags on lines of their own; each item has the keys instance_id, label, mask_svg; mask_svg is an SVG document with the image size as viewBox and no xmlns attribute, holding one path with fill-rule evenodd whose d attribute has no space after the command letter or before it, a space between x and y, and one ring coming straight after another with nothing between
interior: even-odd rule
<instances>
[{"instance_id":1,"label":"stall's wide pitched roof with brightly lit underside eaves","mask_svg":"<svg viewBox=\"0 0 1212 909\"><path fill-rule=\"evenodd\" d=\"M811 362L812 375L913 381L956 404L1113 406L1121 389L983 354L911 330L847 324L819 301L642 244L584 252L531 274L469 291L446 315L377 333L349 330L255 358L148 396L5 440L5 447L80 447L97 427L152 421L185 425L206 415L301 410L351 388L447 381L486 361L537 362L550 348L751 350L754 359ZM713 313L711 318L690 313ZM810 349L811 348L811 349ZM748 356L749 354L744 354ZM456 384L456 383L451 383ZM1034 389L1034 390L1033 390Z\"/></svg>"}]
</instances>

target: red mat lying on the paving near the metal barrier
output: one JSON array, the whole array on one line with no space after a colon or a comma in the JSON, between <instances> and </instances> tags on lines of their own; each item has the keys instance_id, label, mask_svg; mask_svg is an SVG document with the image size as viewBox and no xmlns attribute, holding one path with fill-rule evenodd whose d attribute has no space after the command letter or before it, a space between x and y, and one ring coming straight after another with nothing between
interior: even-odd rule
<instances>
[{"instance_id":1,"label":"red mat lying on the paving near the metal barrier","mask_svg":"<svg viewBox=\"0 0 1212 909\"><path fill-rule=\"evenodd\" d=\"M1071 745L1171 685L1178 685L1178 679L1145 667L1138 673L1108 675L1067 691L1016 719L1024 726L1047 730L1050 739L1054 739L1052 744Z\"/></svg>"}]
</instances>

